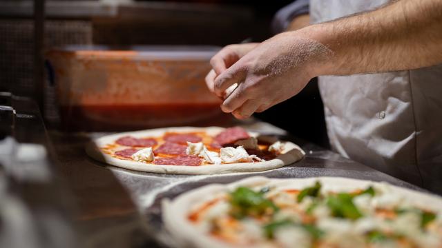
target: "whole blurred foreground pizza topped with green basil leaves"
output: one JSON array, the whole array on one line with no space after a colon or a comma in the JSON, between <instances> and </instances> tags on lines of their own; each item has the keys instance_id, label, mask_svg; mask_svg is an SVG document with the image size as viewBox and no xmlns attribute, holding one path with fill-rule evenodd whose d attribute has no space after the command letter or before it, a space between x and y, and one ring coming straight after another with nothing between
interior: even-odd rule
<instances>
[{"instance_id":1,"label":"whole blurred foreground pizza topped with green basil leaves","mask_svg":"<svg viewBox=\"0 0 442 248\"><path fill-rule=\"evenodd\" d=\"M162 218L182 247L442 247L442 198L349 178L207 185Z\"/></svg>"}]
</instances>

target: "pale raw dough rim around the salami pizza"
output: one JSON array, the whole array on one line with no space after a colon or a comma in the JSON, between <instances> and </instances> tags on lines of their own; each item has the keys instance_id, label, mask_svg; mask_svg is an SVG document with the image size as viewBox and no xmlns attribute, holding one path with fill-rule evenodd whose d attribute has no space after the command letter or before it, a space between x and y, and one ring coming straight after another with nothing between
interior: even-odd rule
<instances>
[{"instance_id":1,"label":"pale raw dough rim around the salami pizza","mask_svg":"<svg viewBox=\"0 0 442 248\"><path fill-rule=\"evenodd\" d=\"M134 136L135 138L147 137L147 136L162 136L166 132L206 132L210 136L215 136L219 132L222 132L222 127L166 127L157 128L153 130L143 130L137 132L124 132L119 134L113 134L97 138L94 141L86 145L86 154L88 156L107 163L109 165L115 165L124 169L132 169L139 172L153 172L162 174L225 174L234 172L262 172L269 169L276 169L285 165L290 165L299 161L304 157L305 152L302 151L298 145L285 141L285 150L282 154L273 158L270 161L255 162L255 163L231 163L221 165L201 165L201 166L186 166L186 165L152 165L137 161L128 161L123 159L114 158L109 154L105 154L100 151L99 147L104 147L107 144L115 143L118 138L122 136ZM257 133L249 132L251 136L258 136Z\"/></svg>"}]
</instances>

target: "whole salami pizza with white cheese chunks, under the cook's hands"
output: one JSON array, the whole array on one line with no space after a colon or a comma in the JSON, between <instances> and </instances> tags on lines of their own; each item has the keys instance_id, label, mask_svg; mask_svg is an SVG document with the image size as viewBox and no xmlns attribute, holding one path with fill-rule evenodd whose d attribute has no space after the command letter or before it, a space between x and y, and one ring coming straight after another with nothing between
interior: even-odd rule
<instances>
[{"instance_id":1,"label":"whole salami pizza with white cheese chunks, under the cook's hands","mask_svg":"<svg viewBox=\"0 0 442 248\"><path fill-rule=\"evenodd\" d=\"M260 172L299 161L305 152L288 141L242 127L169 127L95 139L92 158L142 172L215 174Z\"/></svg>"}]
</instances>

